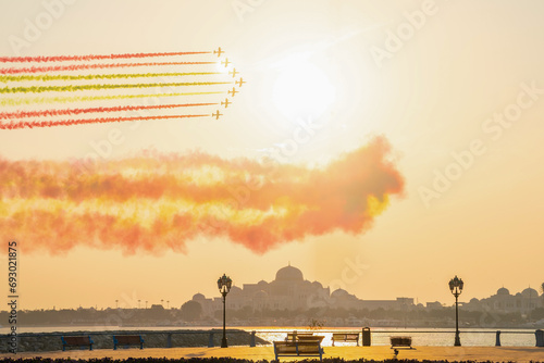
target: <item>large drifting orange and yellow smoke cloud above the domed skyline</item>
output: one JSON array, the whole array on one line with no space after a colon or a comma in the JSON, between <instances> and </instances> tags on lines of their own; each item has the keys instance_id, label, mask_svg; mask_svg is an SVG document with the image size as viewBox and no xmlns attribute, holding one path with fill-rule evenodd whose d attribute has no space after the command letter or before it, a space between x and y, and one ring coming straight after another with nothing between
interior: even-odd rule
<instances>
[{"instance_id":1,"label":"large drifting orange and yellow smoke cloud above the domed skyline","mask_svg":"<svg viewBox=\"0 0 544 363\"><path fill-rule=\"evenodd\" d=\"M378 137L313 170L200 152L91 164L0 160L0 234L51 253L183 252L197 236L264 253L334 230L360 234L403 192L390 151Z\"/></svg>"}]
</instances>

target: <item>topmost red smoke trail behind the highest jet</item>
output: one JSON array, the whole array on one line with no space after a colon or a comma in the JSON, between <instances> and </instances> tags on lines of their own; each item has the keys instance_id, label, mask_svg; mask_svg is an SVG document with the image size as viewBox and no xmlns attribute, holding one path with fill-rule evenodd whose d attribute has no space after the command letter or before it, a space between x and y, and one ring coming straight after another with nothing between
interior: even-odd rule
<instances>
[{"instance_id":1,"label":"topmost red smoke trail behind the highest jet","mask_svg":"<svg viewBox=\"0 0 544 363\"><path fill-rule=\"evenodd\" d=\"M127 54L109 54L109 55L89 54L89 55L53 55L53 57L0 57L0 62L23 63L23 62L97 61L97 60L173 57L173 55L209 54L209 53L211 52L127 53Z\"/></svg>"}]
</instances>

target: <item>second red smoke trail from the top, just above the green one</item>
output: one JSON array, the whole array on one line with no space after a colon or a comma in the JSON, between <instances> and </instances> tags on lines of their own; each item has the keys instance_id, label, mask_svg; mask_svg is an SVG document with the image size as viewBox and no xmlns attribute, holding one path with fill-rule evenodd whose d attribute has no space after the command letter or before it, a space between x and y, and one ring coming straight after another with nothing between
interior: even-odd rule
<instances>
[{"instance_id":1,"label":"second red smoke trail from the top, just above the green one","mask_svg":"<svg viewBox=\"0 0 544 363\"><path fill-rule=\"evenodd\" d=\"M33 66L28 68L0 68L0 74L49 73L49 72L82 71L82 70L126 68L134 66L193 65L193 64L215 64L215 63L217 62L154 62L154 63L74 64L74 65L54 65L54 66Z\"/></svg>"}]
</instances>

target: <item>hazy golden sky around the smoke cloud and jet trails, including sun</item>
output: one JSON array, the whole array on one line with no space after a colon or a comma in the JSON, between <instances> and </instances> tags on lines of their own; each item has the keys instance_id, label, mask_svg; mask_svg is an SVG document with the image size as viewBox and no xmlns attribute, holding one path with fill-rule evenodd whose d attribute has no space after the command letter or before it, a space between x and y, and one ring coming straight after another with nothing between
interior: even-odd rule
<instances>
[{"instance_id":1,"label":"hazy golden sky around the smoke cloud and jet trails, including sun","mask_svg":"<svg viewBox=\"0 0 544 363\"><path fill-rule=\"evenodd\" d=\"M138 299L180 306L198 291L218 296L223 273L242 286L271 280L289 262L361 299L450 303L454 275L466 283L461 300L544 281L542 2L67 2L0 1L0 57L221 46L247 84L218 122L0 130L3 160L85 158L112 129L123 142L106 162L145 149L259 160L294 139L301 117L320 128L285 163L322 167L383 136L405 187L363 234L309 235L264 253L225 237L158 254L83 246L25 253L29 242L3 230L22 246L21 309ZM26 39L47 9L54 18Z\"/></svg>"}]
</instances>

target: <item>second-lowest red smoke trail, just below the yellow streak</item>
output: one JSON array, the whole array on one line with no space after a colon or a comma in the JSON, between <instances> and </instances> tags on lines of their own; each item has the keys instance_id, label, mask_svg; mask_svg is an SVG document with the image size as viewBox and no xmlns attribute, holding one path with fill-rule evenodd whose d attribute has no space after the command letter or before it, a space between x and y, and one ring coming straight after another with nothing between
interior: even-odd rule
<instances>
[{"instance_id":1,"label":"second-lowest red smoke trail, just below the yellow streak","mask_svg":"<svg viewBox=\"0 0 544 363\"><path fill-rule=\"evenodd\" d=\"M82 113L95 112L120 112L120 111L137 111L137 110L168 110L176 108L190 108L198 105L212 105L219 103L183 103L183 104L156 104L156 105L120 105L112 108L89 108L89 109L64 109L64 110L44 110L44 111L17 111L17 112L0 112L0 120L12 120L23 117L40 117L40 116L60 116L60 115L77 115Z\"/></svg>"}]
</instances>

